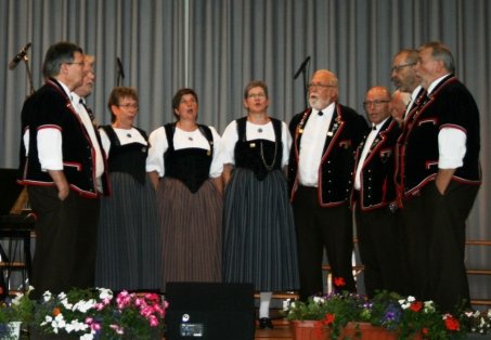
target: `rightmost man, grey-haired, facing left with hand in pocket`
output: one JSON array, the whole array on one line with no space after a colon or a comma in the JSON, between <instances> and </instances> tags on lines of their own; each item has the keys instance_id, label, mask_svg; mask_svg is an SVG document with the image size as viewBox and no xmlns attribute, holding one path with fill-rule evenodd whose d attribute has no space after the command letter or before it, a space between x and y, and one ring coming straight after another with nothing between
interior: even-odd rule
<instances>
[{"instance_id":1,"label":"rightmost man, grey-haired, facing left with hand in pocket","mask_svg":"<svg viewBox=\"0 0 491 340\"><path fill-rule=\"evenodd\" d=\"M403 246L410 293L450 311L469 303L465 222L481 183L479 110L453 75L445 45L430 42L418 52L415 70L426 95L398 142Z\"/></svg>"}]
</instances>

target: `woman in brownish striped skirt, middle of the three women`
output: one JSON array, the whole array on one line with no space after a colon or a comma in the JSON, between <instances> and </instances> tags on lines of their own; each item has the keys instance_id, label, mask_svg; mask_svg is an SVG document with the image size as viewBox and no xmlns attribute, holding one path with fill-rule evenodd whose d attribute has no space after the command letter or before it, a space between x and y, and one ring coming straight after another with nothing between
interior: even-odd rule
<instances>
[{"instance_id":1,"label":"woman in brownish striped skirt, middle of the three women","mask_svg":"<svg viewBox=\"0 0 491 340\"><path fill-rule=\"evenodd\" d=\"M221 282L220 135L196 122L193 90L179 90L172 108L178 121L151 133L146 162L157 191L164 291L168 282Z\"/></svg>"}]
</instances>

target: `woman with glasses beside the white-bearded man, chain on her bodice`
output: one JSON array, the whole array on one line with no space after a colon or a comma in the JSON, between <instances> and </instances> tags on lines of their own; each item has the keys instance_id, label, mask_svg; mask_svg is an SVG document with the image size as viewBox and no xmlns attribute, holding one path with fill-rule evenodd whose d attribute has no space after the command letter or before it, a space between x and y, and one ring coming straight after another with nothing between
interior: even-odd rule
<instances>
[{"instance_id":1,"label":"woman with glasses beside the white-bearded man, chain on her bodice","mask_svg":"<svg viewBox=\"0 0 491 340\"><path fill-rule=\"evenodd\" d=\"M284 169L292 138L268 113L268 87L251 81L244 91L247 116L222 136L225 183L223 279L253 283L260 291L259 322L272 328L273 291L298 288L297 247Z\"/></svg>"}]
</instances>

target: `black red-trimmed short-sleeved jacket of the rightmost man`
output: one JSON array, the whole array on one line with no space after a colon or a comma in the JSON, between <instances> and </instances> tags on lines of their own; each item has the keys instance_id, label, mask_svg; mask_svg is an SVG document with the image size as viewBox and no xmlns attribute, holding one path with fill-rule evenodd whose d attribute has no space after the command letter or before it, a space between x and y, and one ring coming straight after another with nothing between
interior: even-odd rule
<instances>
[{"instance_id":1,"label":"black red-trimmed short-sleeved jacket of the rightmost man","mask_svg":"<svg viewBox=\"0 0 491 340\"><path fill-rule=\"evenodd\" d=\"M438 134L444 127L460 129L466 134L464 164L452 179L480 184L479 109L467 88L449 75L429 96L422 99L399 139L398 179L404 195L412 195L435 180L439 160Z\"/></svg>"}]
</instances>

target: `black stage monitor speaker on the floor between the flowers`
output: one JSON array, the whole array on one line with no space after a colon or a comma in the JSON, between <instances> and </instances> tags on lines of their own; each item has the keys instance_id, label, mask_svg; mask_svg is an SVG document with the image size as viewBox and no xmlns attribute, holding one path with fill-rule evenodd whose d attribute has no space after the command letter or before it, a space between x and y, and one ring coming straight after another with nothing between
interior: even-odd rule
<instances>
[{"instance_id":1,"label":"black stage monitor speaker on the floor between the flowers","mask_svg":"<svg viewBox=\"0 0 491 340\"><path fill-rule=\"evenodd\" d=\"M254 339L251 284L168 283L166 300L166 340Z\"/></svg>"}]
</instances>

